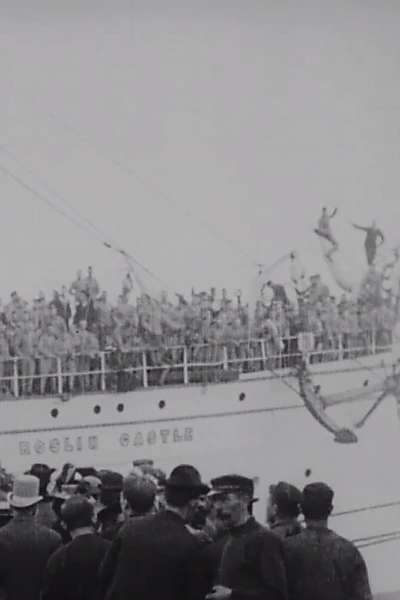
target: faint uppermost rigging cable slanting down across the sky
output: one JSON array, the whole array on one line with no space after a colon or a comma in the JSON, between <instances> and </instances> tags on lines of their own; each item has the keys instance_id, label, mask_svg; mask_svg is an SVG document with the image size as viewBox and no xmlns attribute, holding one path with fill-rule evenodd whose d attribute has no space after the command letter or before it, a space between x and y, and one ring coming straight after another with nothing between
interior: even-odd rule
<instances>
[{"instance_id":1,"label":"faint uppermost rigging cable slanting down across the sky","mask_svg":"<svg viewBox=\"0 0 400 600\"><path fill-rule=\"evenodd\" d=\"M53 121L59 123L64 129L66 129L67 131L69 131L70 133L72 133L75 137L79 138L86 146L90 147L95 152L101 153L114 166L116 166L119 169L123 170L125 173L129 174L132 178L134 178L137 181L139 181L140 183L142 183L154 195L158 196L165 203L167 203L169 205L172 205L172 206L175 206L176 209L180 210L188 218L190 218L193 221L195 221L203 229L205 229L209 233L212 233L214 235L214 237L216 237L220 242L223 242L224 244L227 244L230 247L234 248L239 254L241 254L242 256L244 256L247 260L249 260L257 268L259 268L260 266L262 266L262 265L260 265L260 263L253 256L251 256L243 248L241 248L240 246L238 246L235 242L233 242L232 240L230 240L230 239L222 236L216 229L214 229L213 227L211 227L209 224L207 224L205 221L203 221L200 217L198 217L197 215L195 215L194 213L192 213L191 211L189 211L187 208L185 208L184 206L182 206L182 204L180 202L177 202L171 196L169 196L165 192L162 192L158 188L156 188L147 178L145 178L143 175L139 174L132 167L128 167L123 162L121 162L120 160L118 160L117 158L115 158L114 156L112 156L109 152L107 152L106 150L104 150L102 147L100 147L99 145L97 145L94 142L92 142L86 136L84 136L83 134L81 134L77 129L75 129L72 125L70 125L70 123L68 123L63 118L59 117L54 112L52 112L50 109L48 109L46 106L44 106L43 104L41 104L40 102L38 102L38 100L36 100L33 96L31 96L30 94L28 94L25 90L22 90L21 88L15 86L9 80L7 81L7 85L12 90L14 90L17 94L19 94L19 95L23 96L24 98L26 98L33 106L35 106L40 111L42 111L44 114L46 114L50 119L52 119Z\"/></svg>"}]
</instances>

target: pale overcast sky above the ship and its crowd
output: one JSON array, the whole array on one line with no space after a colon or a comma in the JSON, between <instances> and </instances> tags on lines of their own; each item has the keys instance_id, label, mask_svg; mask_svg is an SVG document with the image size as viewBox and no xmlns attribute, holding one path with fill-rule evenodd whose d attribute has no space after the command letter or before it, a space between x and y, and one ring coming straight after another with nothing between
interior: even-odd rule
<instances>
[{"instance_id":1,"label":"pale overcast sky above the ship and its crowd","mask_svg":"<svg viewBox=\"0 0 400 600\"><path fill-rule=\"evenodd\" d=\"M349 220L400 238L399 22L391 0L4 0L0 167L184 293L292 248L321 269L323 205L356 276ZM4 300L88 264L117 293L116 254L2 171L0 195Z\"/></svg>"}]
</instances>

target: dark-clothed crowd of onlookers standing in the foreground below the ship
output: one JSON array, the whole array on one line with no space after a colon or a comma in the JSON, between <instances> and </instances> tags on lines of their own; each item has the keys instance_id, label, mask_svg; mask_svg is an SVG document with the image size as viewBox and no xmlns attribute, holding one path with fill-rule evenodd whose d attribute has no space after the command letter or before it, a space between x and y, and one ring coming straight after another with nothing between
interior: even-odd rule
<instances>
[{"instance_id":1,"label":"dark-clothed crowd of onlookers standing in the foreground below the ship","mask_svg":"<svg viewBox=\"0 0 400 600\"><path fill-rule=\"evenodd\" d=\"M353 542L328 528L333 490L270 486L266 523L254 482L207 485L191 465L169 477L35 464L2 472L0 597L7 600L371 600Z\"/></svg>"}]
</instances>

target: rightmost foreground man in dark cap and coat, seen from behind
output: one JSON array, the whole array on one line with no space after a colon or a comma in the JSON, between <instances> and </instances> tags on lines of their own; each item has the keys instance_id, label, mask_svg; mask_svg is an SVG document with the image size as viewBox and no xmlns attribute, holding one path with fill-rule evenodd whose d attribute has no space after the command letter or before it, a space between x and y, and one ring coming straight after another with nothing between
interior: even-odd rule
<instances>
[{"instance_id":1,"label":"rightmost foreground man in dark cap and coat, seen from behind","mask_svg":"<svg viewBox=\"0 0 400 600\"><path fill-rule=\"evenodd\" d=\"M307 485L301 510L306 528L283 540L289 600L371 600L367 568L356 546L328 528L333 490Z\"/></svg>"}]
</instances>

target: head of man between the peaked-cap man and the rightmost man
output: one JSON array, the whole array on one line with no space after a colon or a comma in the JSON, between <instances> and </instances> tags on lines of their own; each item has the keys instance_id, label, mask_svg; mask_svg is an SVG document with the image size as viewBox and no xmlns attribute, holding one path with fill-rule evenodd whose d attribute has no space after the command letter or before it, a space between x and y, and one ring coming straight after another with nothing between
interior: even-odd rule
<instances>
[{"instance_id":1,"label":"head of man between the peaked-cap man and the rightmost man","mask_svg":"<svg viewBox=\"0 0 400 600\"><path fill-rule=\"evenodd\" d=\"M267 522L270 531L281 538L301 531L299 523L301 492L286 481L269 488Z\"/></svg>"}]
</instances>

